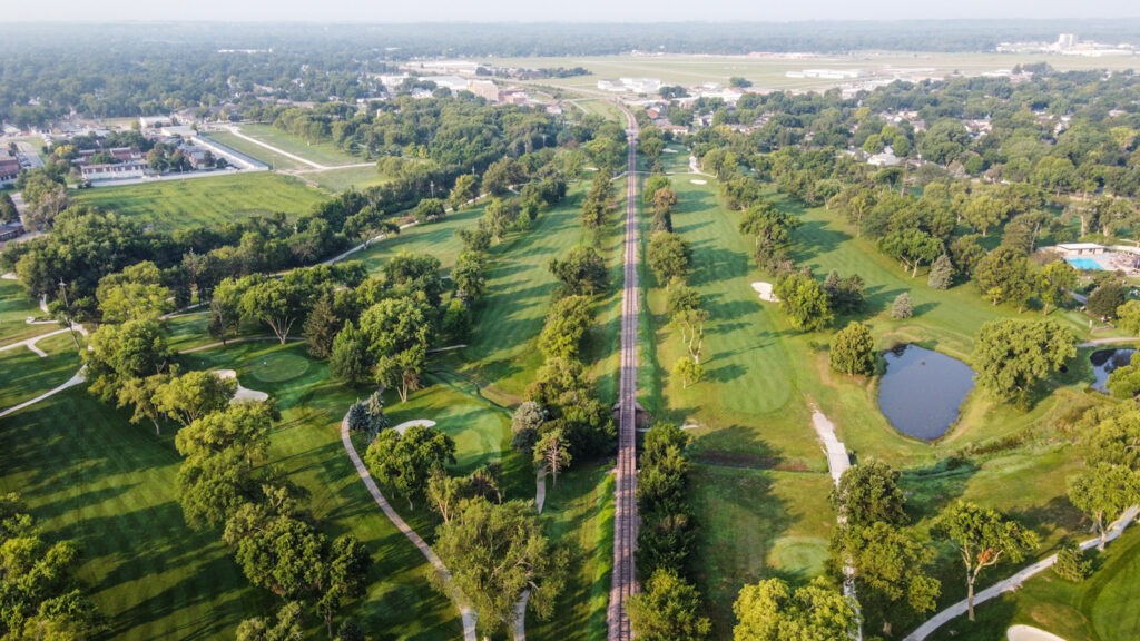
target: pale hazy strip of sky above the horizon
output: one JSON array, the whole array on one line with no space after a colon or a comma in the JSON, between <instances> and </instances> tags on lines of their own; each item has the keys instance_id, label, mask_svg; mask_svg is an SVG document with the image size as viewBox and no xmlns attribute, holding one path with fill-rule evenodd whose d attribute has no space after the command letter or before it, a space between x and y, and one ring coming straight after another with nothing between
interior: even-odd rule
<instances>
[{"instance_id":1,"label":"pale hazy strip of sky above the horizon","mask_svg":"<svg viewBox=\"0 0 1140 641\"><path fill-rule=\"evenodd\" d=\"M1118 18L1134 0L0 0L3 21L783 22Z\"/></svg>"}]
</instances>

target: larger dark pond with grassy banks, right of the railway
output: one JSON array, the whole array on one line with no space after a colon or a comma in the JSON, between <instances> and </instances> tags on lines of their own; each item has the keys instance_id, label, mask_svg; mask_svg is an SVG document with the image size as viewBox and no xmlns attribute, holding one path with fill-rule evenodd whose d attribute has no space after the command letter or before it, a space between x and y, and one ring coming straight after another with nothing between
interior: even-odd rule
<instances>
[{"instance_id":1,"label":"larger dark pond with grassy banks, right of the railway","mask_svg":"<svg viewBox=\"0 0 1140 641\"><path fill-rule=\"evenodd\" d=\"M958 420L962 399L974 388L974 370L956 358L915 344L883 354L879 408L906 436L934 440Z\"/></svg>"}]
</instances>

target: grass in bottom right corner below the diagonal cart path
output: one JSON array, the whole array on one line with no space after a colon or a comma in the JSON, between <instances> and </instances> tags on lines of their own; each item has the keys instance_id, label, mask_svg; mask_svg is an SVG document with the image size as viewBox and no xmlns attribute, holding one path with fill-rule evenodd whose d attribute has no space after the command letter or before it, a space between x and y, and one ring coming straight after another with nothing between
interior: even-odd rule
<instances>
[{"instance_id":1,"label":"grass in bottom right corner below the diagonal cart path","mask_svg":"<svg viewBox=\"0 0 1140 641\"><path fill-rule=\"evenodd\" d=\"M1073 584L1051 570L1017 592L977 607L977 622L964 616L943 625L930 639L1004 639L1016 624L1033 625L1067 641L1131 641L1140 638L1140 529L1133 526L1097 559L1089 579Z\"/></svg>"}]
</instances>

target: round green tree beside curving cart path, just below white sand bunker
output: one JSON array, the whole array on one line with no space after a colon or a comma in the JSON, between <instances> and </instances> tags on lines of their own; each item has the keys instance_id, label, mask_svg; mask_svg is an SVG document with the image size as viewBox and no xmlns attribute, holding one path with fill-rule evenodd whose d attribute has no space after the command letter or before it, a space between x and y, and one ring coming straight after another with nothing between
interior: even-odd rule
<instances>
[{"instance_id":1,"label":"round green tree beside curving cart path, just below white sand bunker","mask_svg":"<svg viewBox=\"0 0 1140 641\"><path fill-rule=\"evenodd\" d=\"M408 508L415 509L413 501L426 492L432 469L455 464L455 441L423 425L413 425L402 435L384 430L368 446L364 460L381 482L394 487L407 498Z\"/></svg>"}]
</instances>

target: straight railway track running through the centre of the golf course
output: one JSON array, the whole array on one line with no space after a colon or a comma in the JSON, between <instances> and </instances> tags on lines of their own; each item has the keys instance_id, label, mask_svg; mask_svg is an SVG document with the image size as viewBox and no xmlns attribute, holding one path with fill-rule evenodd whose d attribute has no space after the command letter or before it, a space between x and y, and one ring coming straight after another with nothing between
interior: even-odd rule
<instances>
[{"instance_id":1,"label":"straight railway track running through the centre of the golf course","mask_svg":"<svg viewBox=\"0 0 1140 641\"><path fill-rule=\"evenodd\" d=\"M626 599L637 591L634 551L637 544L637 121L628 121L629 159L626 175L625 285L621 290L621 376L619 388L618 469L614 502L613 583L606 610L610 641L633 639Z\"/></svg>"}]
</instances>

